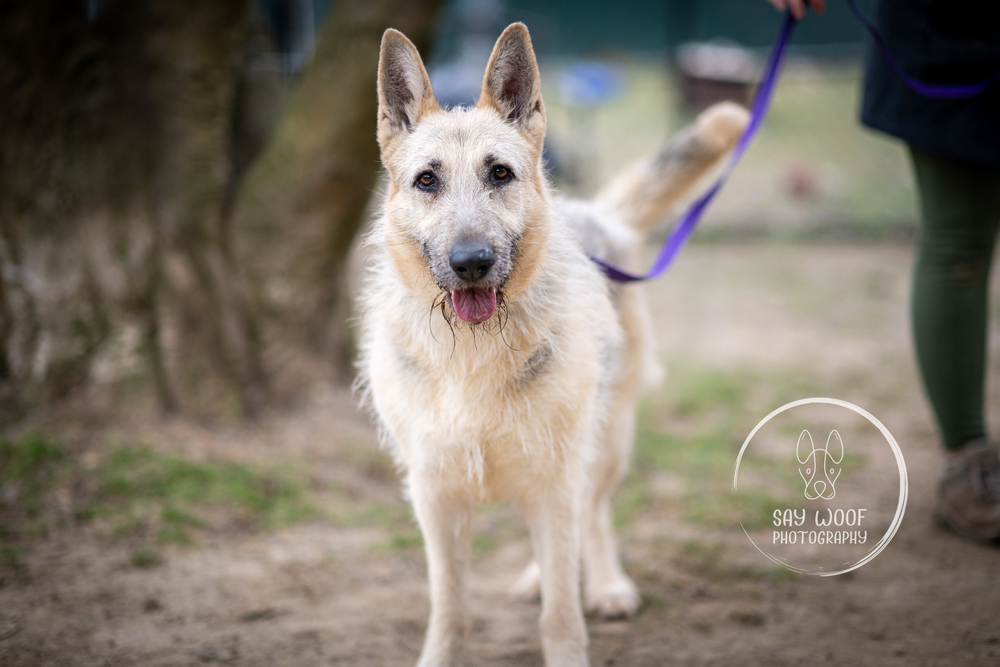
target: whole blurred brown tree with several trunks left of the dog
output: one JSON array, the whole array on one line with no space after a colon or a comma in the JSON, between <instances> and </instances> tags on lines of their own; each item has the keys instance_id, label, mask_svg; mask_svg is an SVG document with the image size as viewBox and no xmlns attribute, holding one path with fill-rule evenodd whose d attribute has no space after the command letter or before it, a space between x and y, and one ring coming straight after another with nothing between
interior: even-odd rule
<instances>
[{"instance_id":1,"label":"whole blurred brown tree with several trunks left of the dog","mask_svg":"<svg viewBox=\"0 0 1000 667\"><path fill-rule=\"evenodd\" d=\"M338 0L253 159L251 0L0 3L0 423L80 394L251 414L265 347L346 377L379 41L426 44L439 4Z\"/></svg>"}]
</instances>

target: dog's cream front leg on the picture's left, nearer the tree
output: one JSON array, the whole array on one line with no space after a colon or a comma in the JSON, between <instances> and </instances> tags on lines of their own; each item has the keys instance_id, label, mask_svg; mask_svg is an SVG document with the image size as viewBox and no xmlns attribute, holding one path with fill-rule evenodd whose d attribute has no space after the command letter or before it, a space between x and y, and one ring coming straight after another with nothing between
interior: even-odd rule
<instances>
[{"instance_id":1,"label":"dog's cream front leg on the picture's left, nearer the tree","mask_svg":"<svg viewBox=\"0 0 1000 667\"><path fill-rule=\"evenodd\" d=\"M444 494L437 480L409 476L410 498L424 535L431 614L417 667L455 667L465 638L465 578L473 503Z\"/></svg>"}]
</instances>

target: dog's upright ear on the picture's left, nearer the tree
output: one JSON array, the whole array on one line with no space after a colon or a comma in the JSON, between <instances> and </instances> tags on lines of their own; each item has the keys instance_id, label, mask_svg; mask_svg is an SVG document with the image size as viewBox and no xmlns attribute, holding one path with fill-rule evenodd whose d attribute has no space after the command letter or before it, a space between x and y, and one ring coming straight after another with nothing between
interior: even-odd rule
<instances>
[{"instance_id":1,"label":"dog's upright ear on the picture's left, nearer the tree","mask_svg":"<svg viewBox=\"0 0 1000 667\"><path fill-rule=\"evenodd\" d=\"M420 53L406 35L389 28L378 59L378 142L385 151L420 117L437 108Z\"/></svg>"}]
</instances>

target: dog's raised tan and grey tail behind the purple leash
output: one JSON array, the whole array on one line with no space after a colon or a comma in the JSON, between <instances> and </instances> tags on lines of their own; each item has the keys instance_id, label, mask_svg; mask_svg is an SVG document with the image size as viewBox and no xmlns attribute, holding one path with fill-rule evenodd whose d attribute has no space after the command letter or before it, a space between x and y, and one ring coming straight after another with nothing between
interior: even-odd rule
<instances>
[{"instance_id":1,"label":"dog's raised tan and grey tail behind the purple leash","mask_svg":"<svg viewBox=\"0 0 1000 667\"><path fill-rule=\"evenodd\" d=\"M615 176L594 202L614 211L642 236L648 235L707 184L749 120L747 110L731 102L709 107L658 152Z\"/></svg>"}]
</instances>

